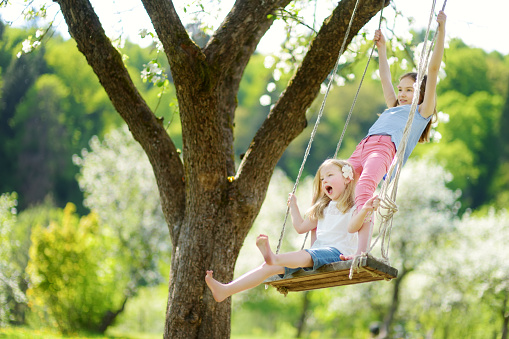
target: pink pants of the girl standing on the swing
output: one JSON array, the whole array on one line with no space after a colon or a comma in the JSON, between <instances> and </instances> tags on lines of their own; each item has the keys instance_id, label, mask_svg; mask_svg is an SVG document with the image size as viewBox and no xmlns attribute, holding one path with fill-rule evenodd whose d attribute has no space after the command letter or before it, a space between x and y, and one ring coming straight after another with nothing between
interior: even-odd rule
<instances>
[{"instance_id":1,"label":"pink pants of the girl standing on the swing","mask_svg":"<svg viewBox=\"0 0 509 339\"><path fill-rule=\"evenodd\" d=\"M373 196L378 183L389 170L395 154L396 147L389 135L371 135L357 145L348 159L353 166L355 179L358 179L355 187L357 210Z\"/></svg>"}]
</instances>

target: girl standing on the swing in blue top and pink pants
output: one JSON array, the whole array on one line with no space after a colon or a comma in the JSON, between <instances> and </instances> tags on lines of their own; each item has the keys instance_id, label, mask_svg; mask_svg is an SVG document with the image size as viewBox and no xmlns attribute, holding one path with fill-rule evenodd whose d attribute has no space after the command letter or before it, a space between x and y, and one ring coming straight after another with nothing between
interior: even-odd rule
<instances>
[{"instance_id":1,"label":"girl standing on the swing in blue top and pink pants","mask_svg":"<svg viewBox=\"0 0 509 339\"><path fill-rule=\"evenodd\" d=\"M435 48L428 65L428 75L425 76L419 92L419 101L415 112L412 128L408 137L403 164L412 153L417 142L429 140L431 123L436 119L436 87L438 71L444 54L446 15L440 11L437 16L438 34ZM374 41L378 49L380 79L389 109L383 112L369 129L364 138L353 152L348 161L353 165L357 186L355 189L355 205L360 209L373 196L376 187L391 166L392 159L403 138L403 130L410 114L410 107L414 96L414 84L417 73L404 74L397 86L396 95L391 83L391 71L387 61L385 38L380 30L375 33ZM369 218L368 218L369 219ZM355 255L366 252L371 239L370 225L372 220L366 220L358 227L349 228L349 232L358 232L359 242ZM353 259L352 256L342 255L342 260Z\"/></svg>"}]
</instances>

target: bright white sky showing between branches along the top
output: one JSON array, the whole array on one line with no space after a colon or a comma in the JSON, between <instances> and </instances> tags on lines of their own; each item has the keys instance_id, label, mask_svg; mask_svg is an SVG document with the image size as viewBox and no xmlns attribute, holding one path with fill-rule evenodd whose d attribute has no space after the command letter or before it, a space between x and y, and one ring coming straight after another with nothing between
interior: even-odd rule
<instances>
[{"instance_id":1,"label":"bright white sky showing between branches along the top","mask_svg":"<svg viewBox=\"0 0 509 339\"><path fill-rule=\"evenodd\" d=\"M42 0L35 0L36 2ZM110 36L119 35L120 32L127 36L129 40L139 43L140 45L148 45L150 41L139 37L140 29L148 29L153 31L152 25L146 14L140 0L90 0L94 6L103 27ZM186 6L188 3L197 1L191 0L174 0L173 3L182 21L193 15L196 7ZM58 5L49 1L48 16L53 17L58 11ZM207 15L206 19L212 22L212 25L218 25L227 11L231 8L233 0L211 1L202 0L205 8L210 9L210 13L218 14ZM327 7L333 6L336 1L318 1L321 8L318 8L318 17L325 17L330 13ZM327 5L324 5L327 3ZM208 4L208 7L207 7ZM414 18L414 24L408 26L404 20L398 19L396 26L397 32L409 29L425 29L429 20L429 13L432 5L431 0L393 0L393 4L407 17ZM437 1L438 11L442 8L443 1ZM12 21L14 26L23 25L20 12L23 9L23 0L11 0L10 8L1 8L0 17L3 20ZM184 11L184 8L186 11ZM448 38L461 38L467 45L471 47L479 47L487 52L499 51L502 54L509 54L509 43L507 43L507 34L509 33L509 20L507 13L509 2L501 0L449 0L446 4L445 12L447 14L446 35ZM309 11L308 11L309 13ZM384 10L384 16L388 22L393 23L394 12L391 9ZM67 28L62 16L56 16L57 29L62 35L68 37ZM436 25L435 22L433 24ZM366 26L368 33L374 32L378 26L378 17ZM435 26L432 26L435 27ZM260 52L270 50L274 45L275 39L281 36L281 26L275 25L268 34L262 39L259 45Z\"/></svg>"}]
</instances>

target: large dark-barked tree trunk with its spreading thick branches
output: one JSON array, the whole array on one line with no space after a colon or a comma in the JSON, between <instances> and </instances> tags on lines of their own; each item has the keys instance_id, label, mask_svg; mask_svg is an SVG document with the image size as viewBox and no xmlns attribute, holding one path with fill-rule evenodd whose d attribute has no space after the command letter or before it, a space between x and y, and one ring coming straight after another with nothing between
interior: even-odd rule
<instances>
[{"instance_id":1,"label":"large dark-barked tree trunk with its spreading thick branches","mask_svg":"<svg viewBox=\"0 0 509 339\"><path fill-rule=\"evenodd\" d=\"M216 303L204 281L213 269L233 278L277 161L306 126L306 110L334 66L355 1L343 0L324 22L287 89L235 169L237 91L258 42L290 0L238 0L204 48L169 0L142 0L168 57L182 124L179 157L161 121L135 88L88 0L56 0L71 36L154 169L173 244L165 338L228 338L230 299ZM348 43L381 6L363 0ZM229 176L234 176L232 182Z\"/></svg>"}]
</instances>

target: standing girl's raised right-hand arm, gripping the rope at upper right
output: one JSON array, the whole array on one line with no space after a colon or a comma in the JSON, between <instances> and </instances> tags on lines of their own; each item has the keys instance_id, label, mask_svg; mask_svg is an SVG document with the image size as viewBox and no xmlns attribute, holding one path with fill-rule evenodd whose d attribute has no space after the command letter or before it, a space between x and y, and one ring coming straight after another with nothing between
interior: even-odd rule
<instances>
[{"instance_id":1,"label":"standing girl's raised right-hand arm, gripping the rope at upper right","mask_svg":"<svg viewBox=\"0 0 509 339\"><path fill-rule=\"evenodd\" d=\"M429 117L435 111L435 97L438 82L438 71L440 70L440 64L442 63L442 57L444 55L444 44L445 44L445 21L447 17L443 11L440 11L437 16L438 22L438 35L435 43L433 54L428 66L428 79L426 80L426 92L424 94L424 100L419 107L419 113L424 118Z\"/></svg>"}]
</instances>

